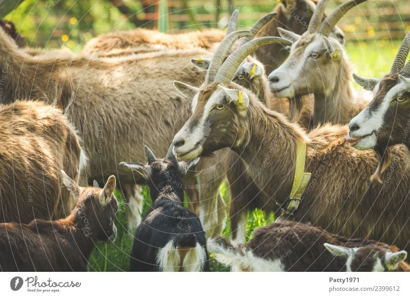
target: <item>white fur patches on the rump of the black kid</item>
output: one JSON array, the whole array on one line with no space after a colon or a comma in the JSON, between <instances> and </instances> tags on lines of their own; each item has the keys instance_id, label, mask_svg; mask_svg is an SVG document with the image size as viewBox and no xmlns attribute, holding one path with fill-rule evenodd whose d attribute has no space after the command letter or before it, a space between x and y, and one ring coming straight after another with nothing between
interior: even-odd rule
<instances>
[{"instance_id":1,"label":"white fur patches on the rump of the black kid","mask_svg":"<svg viewBox=\"0 0 410 297\"><path fill-rule=\"evenodd\" d=\"M174 247L174 242L170 241L165 247L158 249L157 264L165 272L176 272L182 267L182 271L201 271L207 261L207 252L199 243L195 248L190 249L185 259L181 263L181 256L178 248Z\"/></svg>"}]
</instances>

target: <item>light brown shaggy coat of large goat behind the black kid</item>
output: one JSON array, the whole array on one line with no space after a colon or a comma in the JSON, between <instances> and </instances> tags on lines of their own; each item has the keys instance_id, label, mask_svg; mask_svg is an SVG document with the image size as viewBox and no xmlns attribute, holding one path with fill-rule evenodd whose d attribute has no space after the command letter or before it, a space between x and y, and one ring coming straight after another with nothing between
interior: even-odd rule
<instances>
[{"instance_id":1,"label":"light brown shaggy coat of large goat behind the black kid","mask_svg":"<svg viewBox=\"0 0 410 297\"><path fill-rule=\"evenodd\" d=\"M7 66L7 71L3 71L6 78L1 94L5 103L18 97L44 98L50 102L48 98L54 95L59 73L64 70L71 75L75 98L67 116L79 130L89 157L81 185L93 180L101 182L103 176L113 172L121 184L145 182L138 174L118 167L117 160L145 160L144 150L127 145L139 143L141 139L155 151L167 152L173 134L192 112L189 100L179 95L172 82L178 78L199 85L204 73L197 71L188 57L209 55L203 49L194 49L115 59L84 55L33 57L19 50L4 32L0 33L0 44L0 70ZM222 159L223 152L219 153ZM226 217L223 200L218 195L224 177L223 165L208 159L200 161L197 167L195 175L190 173L185 180L187 189L197 196L198 188L201 189L199 199L211 204L209 209L204 206L204 220L208 220L206 215L211 216L208 225L213 226L215 221L222 222ZM217 207L216 203L221 206ZM214 209L222 210L214 213ZM217 229L216 232L221 232L222 225Z\"/></svg>"}]
</instances>

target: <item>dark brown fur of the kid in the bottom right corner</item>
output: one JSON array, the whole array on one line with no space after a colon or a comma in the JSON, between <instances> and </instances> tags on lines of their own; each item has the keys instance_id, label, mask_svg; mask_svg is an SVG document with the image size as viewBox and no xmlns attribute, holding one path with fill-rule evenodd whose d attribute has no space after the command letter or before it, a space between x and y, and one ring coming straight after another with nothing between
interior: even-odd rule
<instances>
[{"instance_id":1,"label":"dark brown fur of the kid in the bottom right corner","mask_svg":"<svg viewBox=\"0 0 410 297\"><path fill-rule=\"evenodd\" d=\"M378 251L381 258L386 251L398 249L374 240L352 239L339 236L310 224L293 221L273 223L255 231L253 238L246 245L236 245L226 240L216 241L225 249L243 253L252 251L257 259L280 260L285 271L346 271L346 259L334 256L326 250L324 243L346 248L357 248L352 261L352 271L372 271L373 255ZM210 252L214 252L210 246ZM255 263L257 265L257 263ZM243 267L249 269L249 267ZM387 271L387 270L386 270ZM409 271L407 263L401 262L395 271Z\"/></svg>"}]
</instances>

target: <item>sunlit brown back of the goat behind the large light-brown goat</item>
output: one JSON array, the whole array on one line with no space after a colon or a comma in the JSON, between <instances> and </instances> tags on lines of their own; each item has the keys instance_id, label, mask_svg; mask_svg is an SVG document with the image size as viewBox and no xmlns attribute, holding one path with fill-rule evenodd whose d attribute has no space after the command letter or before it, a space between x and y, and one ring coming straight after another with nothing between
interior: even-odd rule
<instances>
[{"instance_id":1,"label":"sunlit brown back of the goat behind the large light-brown goat","mask_svg":"<svg viewBox=\"0 0 410 297\"><path fill-rule=\"evenodd\" d=\"M152 52L165 49L211 49L220 42L225 32L216 29L194 31L181 34L165 34L155 30L138 28L133 31L116 31L95 37L89 41L83 53L97 55L118 54L118 50L132 53ZM129 53L131 53L129 52ZM125 52L122 51L122 54Z\"/></svg>"}]
</instances>

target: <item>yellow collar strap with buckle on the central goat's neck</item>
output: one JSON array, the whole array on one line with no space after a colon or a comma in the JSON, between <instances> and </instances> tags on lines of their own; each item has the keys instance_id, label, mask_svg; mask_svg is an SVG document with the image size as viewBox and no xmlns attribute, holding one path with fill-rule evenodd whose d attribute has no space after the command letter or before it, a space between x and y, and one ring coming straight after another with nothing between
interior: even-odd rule
<instances>
[{"instance_id":1,"label":"yellow collar strap with buckle on the central goat's neck","mask_svg":"<svg viewBox=\"0 0 410 297\"><path fill-rule=\"evenodd\" d=\"M301 197L309 185L312 173L304 172L306 161L306 143L299 141L296 152L295 176L291 194L288 199L288 205L282 209L282 214L292 215L299 207Z\"/></svg>"}]
</instances>

